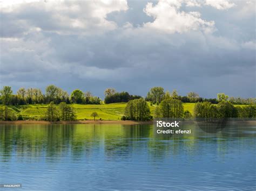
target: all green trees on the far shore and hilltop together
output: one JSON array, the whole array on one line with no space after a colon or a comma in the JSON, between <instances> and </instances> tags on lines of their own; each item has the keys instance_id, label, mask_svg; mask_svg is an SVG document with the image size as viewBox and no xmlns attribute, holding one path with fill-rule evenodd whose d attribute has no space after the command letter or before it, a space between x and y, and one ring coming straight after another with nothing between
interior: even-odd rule
<instances>
[{"instance_id":1,"label":"all green trees on the far shore and hilltop together","mask_svg":"<svg viewBox=\"0 0 256 191\"><path fill-rule=\"evenodd\" d=\"M234 107L230 97L220 93L215 101L209 99L200 100L197 93L188 93L188 102L196 103L194 106L194 116L190 111L184 111L183 98L178 95L177 90L172 93L164 91L162 87L150 89L146 98L137 95L130 95L127 92L118 93L113 88L107 88L104 92L105 103L127 102L122 120L150 121L151 116L149 103L154 104L155 118L255 118L256 107L255 98L251 98L252 103L243 107ZM185 99L185 98L184 98ZM73 121L76 120L75 109L70 103L78 104L102 104L99 97L92 96L89 91L73 90L69 96L66 91L50 85L46 87L45 94L36 88L20 88L14 95L11 87L5 86L0 90L0 100L3 106L0 107L0 120L17 120L22 116L16 116L15 112L7 105L46 103L48 107L42 120L46 121ZM217 103L217 104L216 104ZM96 117L96 114L92 115Z\"/></svg>"}]
</instances>

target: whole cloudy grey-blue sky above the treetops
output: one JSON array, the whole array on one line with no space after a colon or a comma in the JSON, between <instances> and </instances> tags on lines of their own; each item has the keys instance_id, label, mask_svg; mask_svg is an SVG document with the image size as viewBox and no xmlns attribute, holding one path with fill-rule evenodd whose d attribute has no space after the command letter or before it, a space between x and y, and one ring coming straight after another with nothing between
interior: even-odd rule
<instances>
[{"instance_id":1,"label":"whole cloudy grey-blue sky above the treetops","mask_svg":"<svg viewBox=\"0 0 256 191\"><path fill-rule=\"evenodd\" d=\"M3 1L0 85L255 97L255 1Z\"/></svg>"}]
</instances>

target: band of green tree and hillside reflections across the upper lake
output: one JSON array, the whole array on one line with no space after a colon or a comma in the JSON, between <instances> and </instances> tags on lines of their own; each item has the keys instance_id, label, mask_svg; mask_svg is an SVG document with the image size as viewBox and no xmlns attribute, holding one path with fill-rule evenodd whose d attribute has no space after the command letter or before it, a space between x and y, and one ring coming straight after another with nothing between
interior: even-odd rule
<instances>
[{"instance_id":1,"label":"band of green tree and hillside reflections across the upper lake","mask_svg":"<svg viewBox=\"0 0 256 191\"><path fill-rule=\"evenodd\" d=\"M153 125L2 125L0 156L2 161L11 160L14 154L18 156L17 160L37 161L42 159L38 156L43 156L46 161L51 162L62 159L62 156L77 160L82 157L98 157L100 154L120 159L129 157L131 153L145 153L146 150L157 161L167 157L174 158L181 152L194 155L204 150L199 146L199 141L204 144L216 143L220 154L225 154L225 142L230 138L255 136L246 134L246 126L237 122L228 124L225 128L221 128L221 124L216 126L215 123L196 124L199 125L183 126L182 129L192 130L190 135L157 135ZM222 131L208 133L212 124L214 131Z\"/></svg>"}]
</instances>

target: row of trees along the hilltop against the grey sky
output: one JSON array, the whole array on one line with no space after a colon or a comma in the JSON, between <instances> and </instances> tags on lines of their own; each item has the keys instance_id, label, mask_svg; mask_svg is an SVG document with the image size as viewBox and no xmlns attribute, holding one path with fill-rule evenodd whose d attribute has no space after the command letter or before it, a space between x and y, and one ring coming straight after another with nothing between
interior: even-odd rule
<instances>
[{"instance_id":1,"label":"row of trees along the hilltop against the grey sky","mask_svg":"<svg viewBox=\"0 0 256 191\"><path fill-rule=\"evenodd\" d=\"M78 104L103 104L103 101L99 97L93 96L90 91L82 91L80 89L75 89L69 95L67 91L63 89L50 85L45 88L45 93L39 88L19 88L16 94L13 94L11 87L5 86L0 90L0 96L3 97L4 94L8 94L8 104L9 105L24 105L24 104L49 104L54 102L59 104L65 102L78 103ZM104 91L105 99L104 103L120 103L129 102L130 100L142 98L139 95L131 95L127 91L117 92L114 88L107 88ZM218 104L221 101L221 96L226 96L226 100L233 104L255 104L256 98L241 98L241 97L228 97L224 93L217 95L217 98L203 98L199 94L191 91L187 93L186 96L178 95L177 90L165 91L163 87L153 87L147 93L145 100L151 102L152 104L159 104L166 98L172 97L176 100L180 100L184 103L197 103L197 102L210 102L213 104ZM0 98L0 104L3 104L3 98Z\"/></svg>"}]
</instances>

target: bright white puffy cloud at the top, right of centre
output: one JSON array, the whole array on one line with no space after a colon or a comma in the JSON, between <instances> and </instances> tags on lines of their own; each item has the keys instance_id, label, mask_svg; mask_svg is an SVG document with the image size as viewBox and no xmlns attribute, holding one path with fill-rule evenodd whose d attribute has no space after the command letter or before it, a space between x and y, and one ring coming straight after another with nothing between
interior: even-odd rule
<instances>
[{"instance_id":1,"label":"bright white puffy cloud at the top, right of centre","mask_svg":"<svg viewBox=\"0 0 256 191\"><path fill-rule=\"evenodd\" d=\"M144 11L148 16L154 17L154 22L145 23L144 26L169 33L214 31L214 21L201 19L199 12L180 11L181 3L182 1L179 0L160 0L154 6L152 3L147 3Z\"/></svg>"}]
</instances>

